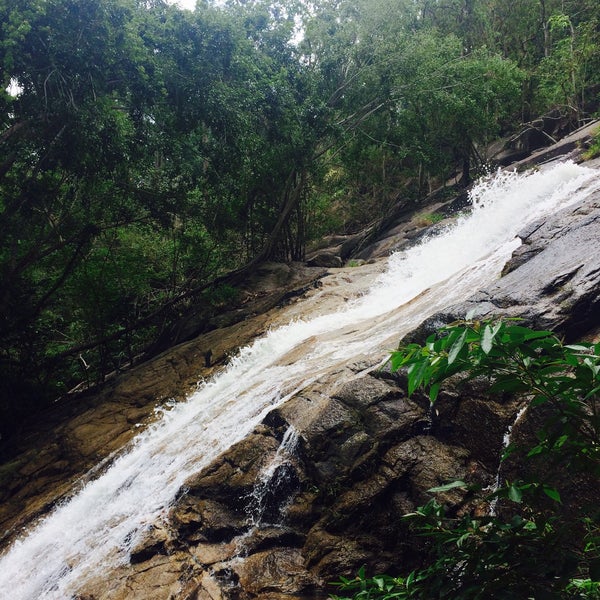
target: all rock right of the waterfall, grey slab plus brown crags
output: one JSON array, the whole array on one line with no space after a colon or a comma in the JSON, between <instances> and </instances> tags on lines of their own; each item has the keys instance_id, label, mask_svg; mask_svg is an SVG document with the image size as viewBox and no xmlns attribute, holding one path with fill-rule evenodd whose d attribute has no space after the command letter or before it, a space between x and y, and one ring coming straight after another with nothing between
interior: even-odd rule
<instances>
[{"instance_id":1,"label":"all rock right of the waterfall, grey slab plus brown crags","mask_svg":"<svg viewBox=\"0 0 600 600\"><path fill-rule=\"evenodd\" d=\"M414 337L470 308L520 316L573 339L598 328L600 194L521 237L498 282L435 315ZM188 482L170 518L170 546L150 536L139 560L191 555L191 595L181 598L209 595L207 570L221 597L235 598L314 594L362 565L371 573L409 570L422 542L409 536L400 515L451 480L491 485L519 405L490 398L472 382L443 392L432 413L426 398L406 397L401 377L364 372L364 364L349 366L272 411L252 436ZM297 449L280 466L285 476L263 498L258 518L256 482L290 426L299 432ZM487 510L469 506L460 491L445 494L459 510Z\"/></svg>"}]
</instances>

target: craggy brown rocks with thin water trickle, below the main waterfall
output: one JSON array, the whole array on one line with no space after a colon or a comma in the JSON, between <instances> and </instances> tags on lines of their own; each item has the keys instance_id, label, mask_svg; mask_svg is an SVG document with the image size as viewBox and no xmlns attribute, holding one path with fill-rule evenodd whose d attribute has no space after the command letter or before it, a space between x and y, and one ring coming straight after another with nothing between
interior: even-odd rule
<instances>
[{"instance_id":1,"label":"craggy brown rocks with thin water trickle, below the main waterfall","mask_svg":"<svg viewBox=\"0 0 600 600\"><path fill-rule=\"evenodd\" d=\"M440 410L462 412L465 420L449 435L425 398L407 399L403 382L385 373L357 378L363 367L304 390L188 480L167 528L148 531L131 569L111 578L110 593L99 582L87 588L89 597L129 598L142 583L155 594L147 598L306 596L362 564L377 572L412 564L419 544L399 515L448 480L490 484L497 453L484 452L480 460L476 452L500 449L516 407L477 412L483 397L473 387L462 410L456 395L442 395ZM334 380L345 383L323 396L322 386ZM475 441L469 421L484 414L486 428ZM290 426L299 432L297 446L261 488L261 473ZM448 492L446 499L457 502L461 494ZM164 582L160 591L157 581Z\"/></svg>"}]
</instances>

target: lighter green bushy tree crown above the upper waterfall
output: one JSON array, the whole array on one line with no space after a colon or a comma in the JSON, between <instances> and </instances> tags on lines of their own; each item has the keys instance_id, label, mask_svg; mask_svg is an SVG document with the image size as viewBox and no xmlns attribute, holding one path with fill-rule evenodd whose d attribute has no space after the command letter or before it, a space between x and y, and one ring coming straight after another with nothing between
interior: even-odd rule
<instances>
[{"instance_id":1,"label":"lighter green bushy tree crown above the upper waterfall","mask_svg":"<svg viewBox=\"0 0 600 600\"><path fill-rule=\"evenodd\" d=\"M319 15L306 39L307 62L321 65L329 83L336 181L346 171L354 194L364 190L359 202L373 194L367 214L393 204L415 173L418 195L457 164L468 183L477 146L519 108L520 70L485 49L465 52L457 36L424 27L410 4L337 8L337 17L333 8Z\"/></svg>"}]
</instances>

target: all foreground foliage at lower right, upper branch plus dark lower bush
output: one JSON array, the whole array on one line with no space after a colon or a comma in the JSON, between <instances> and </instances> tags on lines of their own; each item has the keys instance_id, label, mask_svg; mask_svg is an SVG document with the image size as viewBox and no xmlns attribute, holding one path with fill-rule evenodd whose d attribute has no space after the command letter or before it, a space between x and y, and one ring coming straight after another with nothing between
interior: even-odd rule
<instances>
[{"instance_id":1,"label":"all foreground foliage at lower right, upper branch plus dark lower bush","mask_svg":"<svg viewBox=\"0 0 600 600\"><path fill-rule=\"evenodd\" d=\"M392 353L392 370L406 369L408 392L424 389L435 402L453 375L485 377L490 393L509 392L542 411L543 425L525 460L552 473L600 474L600 343L565 345L550 331L515 321L460 322ZM562 471L561 471L562 469ZM566 516L561 491L539 470L527 481L506 482L486 502L499 515L456 516L435 497L405 515L426 543L422 566L408 576L340 578L339 591L356 600L392 598L600 598L597 509ZM543 470L542 470L543 472ZM554 478L556 479L556 478ZM598 486L596 486L597 488ZM455 481L429 490L477 492ZM572 513L572 511L571 511ZM340 599L341 596L334 596Z\"/></svg>"}]
</instances>

